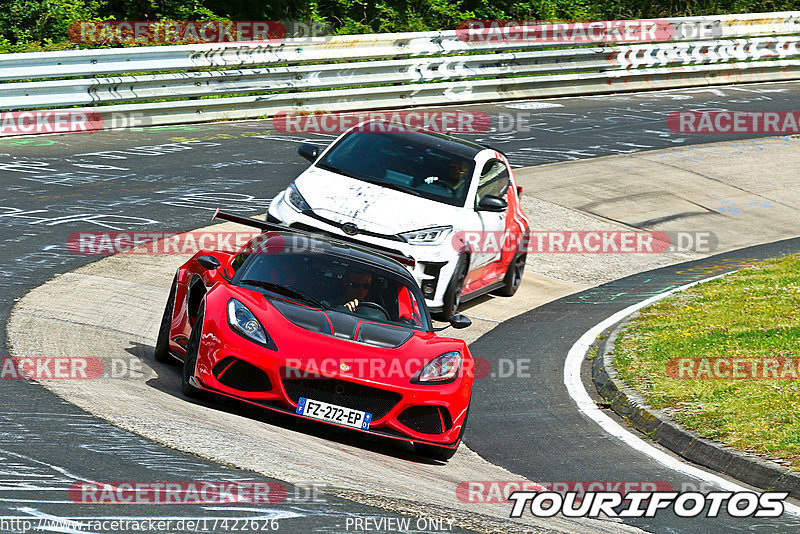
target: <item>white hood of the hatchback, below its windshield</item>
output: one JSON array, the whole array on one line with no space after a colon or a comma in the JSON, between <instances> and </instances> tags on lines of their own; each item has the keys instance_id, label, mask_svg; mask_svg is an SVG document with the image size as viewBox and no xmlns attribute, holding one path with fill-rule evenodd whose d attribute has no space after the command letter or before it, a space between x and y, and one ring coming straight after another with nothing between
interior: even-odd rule
<instances>
[{"instance_id":1,"label":"white hood of the hatchback, below its windshield","mask_svg":"<svg viewBox=\"0 0 800 534\"><path fill-rule=\"evenodd\" d=\"M458 226L463 209L325 169L309 167L295 185L317 215L392 235L433 226Z\"/></svg>"}]
</instances>

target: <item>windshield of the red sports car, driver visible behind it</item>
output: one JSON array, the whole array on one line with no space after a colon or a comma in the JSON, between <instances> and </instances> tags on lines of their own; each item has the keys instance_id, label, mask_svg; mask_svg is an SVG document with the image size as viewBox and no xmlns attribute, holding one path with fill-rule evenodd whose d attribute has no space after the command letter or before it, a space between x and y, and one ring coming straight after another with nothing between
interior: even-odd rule
<instances>
[{"instance_id":1,"label":"windshield of the red sports car, driver visible behind it","mask_svg":"<svg viewBox=\"0 0 800 534\"><path fill-rule=\"evenodd\" d=\"M418 290L387 270L336 254L248 256L234 279L243 287L370 321L429 330Z\"/></svg>"}]
</instances>

